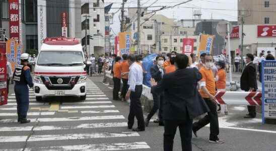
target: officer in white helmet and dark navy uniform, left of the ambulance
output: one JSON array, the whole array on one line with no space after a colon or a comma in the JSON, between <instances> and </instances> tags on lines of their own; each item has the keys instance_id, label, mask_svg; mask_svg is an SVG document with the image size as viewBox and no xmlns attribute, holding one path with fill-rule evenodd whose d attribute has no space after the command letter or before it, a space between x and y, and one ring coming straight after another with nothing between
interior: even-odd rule
<instances>
[{"instance_id":1,"label":"officer in white helmet and dark navy uniform, left of the ambulance","mask_svg":"<svg viewBox=\"0 0 276 151\"><path fill-rule=\"evenodd\" d=\"M21 64L17 65L13 79L15 81L15 97L17 102L17 114L18 122L21 124L29 123L30 120L27 120L27 112L29 109L29 85L30 88L33 87L33 81L31 77L30 67L28 66L28 53L23 53L21 55Z\"/></svg>"}]
</instances>

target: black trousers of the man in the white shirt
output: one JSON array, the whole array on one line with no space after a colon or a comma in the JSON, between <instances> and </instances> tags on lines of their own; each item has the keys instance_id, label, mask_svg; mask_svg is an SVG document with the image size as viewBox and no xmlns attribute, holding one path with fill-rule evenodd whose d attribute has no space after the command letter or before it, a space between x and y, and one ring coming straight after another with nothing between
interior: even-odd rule
<instances>
[{"instance_id":1,"label":"black trousers of the man in the white shirt","mask_svg":"<svg viewBox=\"0 0 276 151\"><path fill-rule=\"evenodd\" d=\"M135 92L131 91L130 93L130 109L128 114L128 128L132 128L134 124L134 117L136 117L138 122L139 129L145 130L145 122L143 116L143 110L141 105L141 95L142 95L143 87L142 85L135 86Z\"/></svg>"}]
</instances>

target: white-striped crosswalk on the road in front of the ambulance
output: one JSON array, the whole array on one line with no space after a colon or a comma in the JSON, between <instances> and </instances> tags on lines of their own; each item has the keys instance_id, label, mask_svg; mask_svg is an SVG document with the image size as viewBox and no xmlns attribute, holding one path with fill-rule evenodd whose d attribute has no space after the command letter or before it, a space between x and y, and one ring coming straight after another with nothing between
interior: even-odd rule
<instances>
[{"instance_id":1,"label":"white-striped crosswalk on the road in front of the ambulance","mask_svg":"<svg viewBox=\"0 0 276 151\"><path fill-rule=\"evenodd\" d=\"M26 150L151 150L112 101L88 80L85 101L37 102L30 90L27 124L17 123L15 94L0 107L0 151ZM131 141L132 140L132 141Z\"/></svg>"}]
</instances>

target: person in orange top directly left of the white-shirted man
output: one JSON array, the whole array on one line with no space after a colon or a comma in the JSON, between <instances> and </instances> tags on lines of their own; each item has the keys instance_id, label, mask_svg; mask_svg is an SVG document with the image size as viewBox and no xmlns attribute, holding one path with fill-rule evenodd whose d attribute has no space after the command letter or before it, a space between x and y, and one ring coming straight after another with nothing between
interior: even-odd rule
<instances>
[{"instance_id":1,"label":"person in orange top directly left of the white-shirted man","mask_svg":"<svg viewBox=\"0 0 276 151\"><path fill-rule=\"evenodd\" d=\"M122 58L123 58L123 62L121 64L121 79L123 82L123 87L121 90L121 96L122 96L122 99L126 101L125 94L128 89L127 81L128 81L129 64L127 62L127 54L123 54Z\"/></svg>"}]
</instances>

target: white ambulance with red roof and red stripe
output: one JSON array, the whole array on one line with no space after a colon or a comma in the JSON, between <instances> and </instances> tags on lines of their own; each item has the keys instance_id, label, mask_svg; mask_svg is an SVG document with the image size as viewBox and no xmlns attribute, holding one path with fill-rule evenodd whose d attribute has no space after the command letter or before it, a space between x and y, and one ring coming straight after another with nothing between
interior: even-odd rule
<instances>
[{"instance_id":1,"label":"white ambulance with red roof and red stripe","mask_svg":"<svg viewBox=\"0 0 276 151\"><path fill-rule=\"evenodd\" d=\"M34 68L33 91L37 101L49 96L86 99L86 63L76 38L45 38Z\"/></svg>"}]
</instances>

